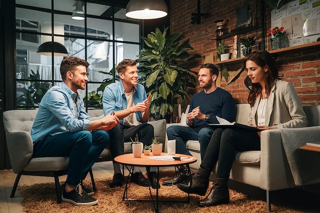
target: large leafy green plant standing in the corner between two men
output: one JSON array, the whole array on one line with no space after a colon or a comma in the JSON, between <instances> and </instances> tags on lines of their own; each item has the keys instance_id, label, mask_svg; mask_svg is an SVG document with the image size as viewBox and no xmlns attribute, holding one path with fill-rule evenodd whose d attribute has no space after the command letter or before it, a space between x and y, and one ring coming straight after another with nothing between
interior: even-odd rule
<instances>
[{"instance_id":1,"label":"large leafy green plant standing in the corner between two men","mask_svg":"<svg viewBox=\"0 0 320 213\"><path fill-rule=\"evenodd\" d=\"M147 93L151 93L150 117L155 120L166 118L171 122L173 107L177 104L177 96L182 101L187 99L187 88L195 87L197 73L185 68L185 62L200 56L189 54L193 50L189 39L181 41L181 33L167 35L168 28L162 33L158 28L147 37L141 37L145 48L140 51L139 83L144 84ZM194 74L194 75L193 75Z\"/></svg>"}]
</instances>

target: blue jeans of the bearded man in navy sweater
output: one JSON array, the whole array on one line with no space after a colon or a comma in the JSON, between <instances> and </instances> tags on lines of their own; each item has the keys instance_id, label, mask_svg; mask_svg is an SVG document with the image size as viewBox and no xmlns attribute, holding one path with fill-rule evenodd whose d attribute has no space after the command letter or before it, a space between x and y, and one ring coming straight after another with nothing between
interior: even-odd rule
<instances>
[{"instance_id":1,"label":"blue jeans of the bearded man in navy sweater","mask_svg":"<svg viewBox=\"0 0 320 213\"><path fill-rule=\"evenodd\" d=\"M210 127L169 126L167 128L168 140L175 140L175 152L178 154L191 155L186 147L187 140L199 140L201 159L204 157L213 132L214 129Z\"/></svg>"}]
</instances>

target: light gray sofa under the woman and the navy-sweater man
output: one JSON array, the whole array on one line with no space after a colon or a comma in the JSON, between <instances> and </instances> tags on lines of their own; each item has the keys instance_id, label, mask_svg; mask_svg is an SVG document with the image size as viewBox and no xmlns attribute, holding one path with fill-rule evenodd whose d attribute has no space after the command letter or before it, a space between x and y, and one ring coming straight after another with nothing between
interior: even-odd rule
<instances>
[{"instance_id":1,"label":"light gray sofa under the woman and the navy-sweater man","mask_svg":"<svg viewBox=\"0 0 320 213\"><path fill-rule=\"evenodd\" d=\"M305 105L303 107L307 114L308 127L292 129L292 131L301 132L299 134L312 134L312 137L320 138L320 131L314 131L314 127L312 127L320 126L320 105ZM249 109L248 104L237 104L235 106L236 122L246 124ZM320 127L318 130L320 130ZM308 141L302 142L305 144ZM197 162L190 164L190 168L197 171L201 163L199 141L188 140L186 146L190 153L197 157ZM230 173L230 179L265 190L268 210L271 208L269 202L270 191L297 186L294 183L284 152L280 130L272 129L261 132L261 151L238 152Z\"/></svg>"}]
</instances>

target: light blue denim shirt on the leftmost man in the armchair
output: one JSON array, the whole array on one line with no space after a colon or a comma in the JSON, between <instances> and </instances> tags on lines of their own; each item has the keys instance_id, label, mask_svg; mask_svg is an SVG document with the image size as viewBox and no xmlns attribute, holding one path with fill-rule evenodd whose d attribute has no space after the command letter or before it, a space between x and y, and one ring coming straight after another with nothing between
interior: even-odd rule
<instances>
[{"instance_id":1,"label":"light blue denim shirt on the leftmost man in the armchair","mask_svg":"<svg viewBox=\"0 0 320 213\"><path fill-rule=\"evenodd\" d=\"M61 86L53 86L44 94L31 128L31 137L35 144L47 135L87 130L90 121L95 119L85 112L80 95L62 82Z\"/></svg>"}]
</instances>

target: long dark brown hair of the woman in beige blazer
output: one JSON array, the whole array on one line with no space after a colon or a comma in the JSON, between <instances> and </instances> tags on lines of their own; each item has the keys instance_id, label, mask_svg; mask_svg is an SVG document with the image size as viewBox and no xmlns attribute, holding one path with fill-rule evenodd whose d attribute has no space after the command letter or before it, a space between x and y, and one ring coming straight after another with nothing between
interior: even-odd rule
<instances>
[{"instance_id":1,"label":"long dark brown hair of the woman in beige blazer","mask_svg":"<svg viewBox=\"0 0 320 213\"><path fill-rule=\"evenodd\" d=\"M252 60L261 67L265 67L266 65L268 66L268 71L265 73L264 81L266 94L269 96L272 86L275 84L276 79L278 79L278 64L276 60L273 59L271 54L265 50L254 51L248 55L244 60L244 67L248 60ZM261 95L261 92L261 84L259 82L253 83L248 96L248 103L250 106L254 105L256 98Z\"/></svg>"}]
</instances>

